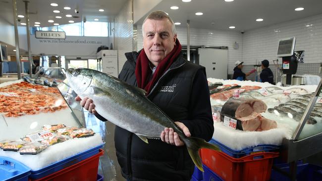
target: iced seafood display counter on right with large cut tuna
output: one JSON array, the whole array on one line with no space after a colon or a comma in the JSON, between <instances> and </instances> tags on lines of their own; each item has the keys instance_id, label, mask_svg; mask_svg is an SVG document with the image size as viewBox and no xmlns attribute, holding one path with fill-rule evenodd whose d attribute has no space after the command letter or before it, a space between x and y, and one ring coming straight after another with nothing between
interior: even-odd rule
<instances>
[{"instance_id":1,"label":"iced seafood display counter on right with large cut tuna","mask_svg":"<svg viewBox=\"0 0 322 181\"><path fill-rule=\"evenodd\" d=\"M208 82L216 141L232 149L279 145L292 180L298 160L322 152L322 82L290 87L212 78Z\"/></svg>"}]
</instances>

